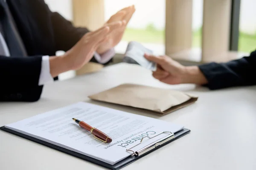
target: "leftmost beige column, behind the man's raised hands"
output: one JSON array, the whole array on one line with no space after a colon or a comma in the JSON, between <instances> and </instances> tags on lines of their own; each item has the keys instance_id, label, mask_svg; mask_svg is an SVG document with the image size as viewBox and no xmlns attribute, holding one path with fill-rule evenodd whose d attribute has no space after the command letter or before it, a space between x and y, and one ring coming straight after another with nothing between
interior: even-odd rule
<instances>
[{"instance_id":1,"label":"leftmost beige column, behind the man's raised hands","mask_svg":"<svg viewBox=\"0 0 256 170\"><path fill-rule=\"evenodd\" d=\"M77 27L86 27L94 31L104 24L104 0L73 0L73 23ZM87 63L76 71L76 75L101 69L103 65Z\"/></svg>"}]
</instances>

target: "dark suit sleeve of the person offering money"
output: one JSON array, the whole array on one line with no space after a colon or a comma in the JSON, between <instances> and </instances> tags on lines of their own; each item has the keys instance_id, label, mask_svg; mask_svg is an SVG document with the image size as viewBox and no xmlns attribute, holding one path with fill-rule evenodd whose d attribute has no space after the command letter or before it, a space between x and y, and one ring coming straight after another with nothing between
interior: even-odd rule
<instances>
[{"instance_id":1,"label":"dark suit sleeve of the person offering money","mask_svg":"<svg viewBox=\"0 0 256 170\"><path fill-rule=\"evenodd\" d=\"M249 57L227 63L208 63L199 66L211 90L234 86L256 85L256 51Z\"/></svg>"}]
</instances>

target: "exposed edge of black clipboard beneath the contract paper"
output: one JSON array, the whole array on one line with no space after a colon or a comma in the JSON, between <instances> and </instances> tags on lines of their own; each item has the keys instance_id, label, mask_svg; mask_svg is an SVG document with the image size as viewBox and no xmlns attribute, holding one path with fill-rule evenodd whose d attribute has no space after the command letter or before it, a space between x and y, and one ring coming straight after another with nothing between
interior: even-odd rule
<instances>
[{"instance_id":1,"label":"exposed edge of black clipboard beneath the contract paper","mask_svg":"<svg viewBox=\"0 0 256 170\"><path fill-rule=\"evenodd\" d=\"M176 139L179 139L180 137L182 137L182 136L184 136L184 135L186 135L187 133L190 132L189 129L180 130L180 131L174 133L174 137L172 139L170 139L168 142L165 142L165 143L163 143L163 144L161 144L159 146L154 147L154 149L149 150L148 152L144 153L143 155L141 155L141 156L129 156L129 157L123 159L122 161L119 161L116 164L111 165L111 164L105 163L103 161L99 161L98 159L91 158L90 156L85 156L85 155L83 155L81 153L77 153L75 151L68 150L66 148L57 146L55 144L51 144L49 142L45 142L43 140L36 139L34 137L25 135L23 133L19 133L19 132L15 131L15 130L11 130L9 128L6 128L5 126L0 127L0 129L3 130L3 131L6 131L8 133L12 133L14 135L20 136L20 137L22 137L24 139L28 139L28 140L36 142L38 144L42 144L44 146L47 146L47 147L50 147L52 149L58 150L58 151L60 151L62 153L66 153L68 155L74 156L74 157L82 159L84 161L89 161L91 163L97 164L99 166L102 166L102 167L105 167L105 168L108 168L108 169L111 169L111 170L119 170L122 167L125 167L125 166L127 166L128 164L131 164L134 161L137 161L138 159L148 155L149 153L153 152L154 150L157 150L157 149L165 146L166 144L169 144L170 142L173 142Z\"/></svg>"}]
</instances>

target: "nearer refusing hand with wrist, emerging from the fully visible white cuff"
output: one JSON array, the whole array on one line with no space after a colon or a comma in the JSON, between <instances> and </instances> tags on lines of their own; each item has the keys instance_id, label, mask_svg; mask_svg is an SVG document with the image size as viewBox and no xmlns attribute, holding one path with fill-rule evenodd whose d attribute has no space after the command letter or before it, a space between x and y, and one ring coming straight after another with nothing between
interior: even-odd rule
<instances>
[{"instance_id":1,"label":"nearer refusing hand with wrist, emerging from the fully visible white cuff","mask_svg":"<svg viewBox=\"0 0 256 170\"><path fill-rule=\"evenodd\" d=\"M120 27L120 23L111 23L96 31L85 34L79 42L61 57L50 57L50 72L52 77L69 70L78 70L92 59L100 43L107 39L113 30ZM111 31L112 30L112 31Z\"/></svg>"}]
</instances>

